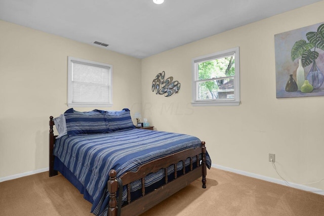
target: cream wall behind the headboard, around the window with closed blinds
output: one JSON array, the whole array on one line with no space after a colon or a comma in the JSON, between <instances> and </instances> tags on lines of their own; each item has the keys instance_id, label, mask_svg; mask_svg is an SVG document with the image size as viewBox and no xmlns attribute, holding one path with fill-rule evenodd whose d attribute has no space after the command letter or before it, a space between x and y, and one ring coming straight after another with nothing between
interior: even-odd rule
<instances>
[{"instance_id":1,"label":"cream wall behind the headboard, around the window with closed blinds","mask_svg":"<svg viewBox=\"0 0 324 216\"><path fill-rule=\"evenodd\" d=\"M101 109L141 110L140 59L1 20L0 32L0 178L48 167L49 116L68 109L68 56L113 66L114 105Z\"/></svg>"}]
</instances>

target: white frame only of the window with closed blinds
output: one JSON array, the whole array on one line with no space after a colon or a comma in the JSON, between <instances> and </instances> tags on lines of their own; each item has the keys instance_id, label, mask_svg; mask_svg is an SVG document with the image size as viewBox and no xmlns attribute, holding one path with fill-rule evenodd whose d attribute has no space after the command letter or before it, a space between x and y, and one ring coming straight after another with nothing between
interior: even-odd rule
<instances>
[{"instance_id":1,"label":"white frame only of the window with closed blinds","mask_svg":"<svg viewBox=\"0 0 324 216\"><path fill-rule=\"evenodd\" d=\"M85 64L92 64L92 65L109 67L109 80L108 80L108 82L109 82L108 83L108 85L109 85L109 99L108 99L107 103L100 103L100 102L95 102L95 103L86 103L86 102L75 103L75 102L72 101L73 100L73 82L72 82L73 61L74 62L79 62L79 63L85 63ZM111 107L112 105L113 105L113 103L112 103L112 65L68 56L67 106L68 107Z\"/></svg>"}]
</instances>

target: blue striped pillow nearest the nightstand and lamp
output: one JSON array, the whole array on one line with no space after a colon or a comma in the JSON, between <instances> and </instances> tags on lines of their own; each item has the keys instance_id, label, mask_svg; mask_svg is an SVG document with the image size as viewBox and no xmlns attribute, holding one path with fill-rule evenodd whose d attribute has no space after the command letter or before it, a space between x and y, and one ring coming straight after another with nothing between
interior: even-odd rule
<instances>
[{"instance_id":1,"label":"blue striped pillow nearest the nightstand and lamp","mask_svg":"<svg viewBox=\"0 0 324 216\"><path fill-rule=\"evenodd\" d=\"M105 117L108 121L110 132L135 128L131 118L131 111L127 108L121 111L105 111Z\"/></svg>"}]
</instances>

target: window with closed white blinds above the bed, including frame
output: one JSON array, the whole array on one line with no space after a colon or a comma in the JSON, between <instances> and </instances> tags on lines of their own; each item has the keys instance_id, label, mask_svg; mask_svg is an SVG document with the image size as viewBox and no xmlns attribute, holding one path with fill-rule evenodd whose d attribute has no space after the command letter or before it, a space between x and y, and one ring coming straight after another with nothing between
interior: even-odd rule
<instances>
[{"instance_id":1,"label":"window with closed white blinds above the bed, including frame","mask_svg":"<svg viewBox=\"0 0 324 216\"><path fill-rule=\"evenodd\" d=\"M68 57L67 105L112 106L112 66Z\"/></svg>"}]
</instances>

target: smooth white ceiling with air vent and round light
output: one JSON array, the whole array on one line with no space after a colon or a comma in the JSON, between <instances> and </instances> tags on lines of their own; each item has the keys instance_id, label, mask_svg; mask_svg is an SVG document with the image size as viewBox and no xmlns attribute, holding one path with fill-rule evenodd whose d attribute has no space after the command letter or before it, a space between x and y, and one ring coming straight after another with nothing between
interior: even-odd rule
<instances>
[{"instance_id":1,"label":"smooth white ceiling with air vent and round light","mask_svg":"<svg viewBox=\"0 0 324 216\"><path fill-rule=\"evenodd\" d=\"M0 19L145 58L320 1L0 0Z\"/></svg>"}]
</instances>

